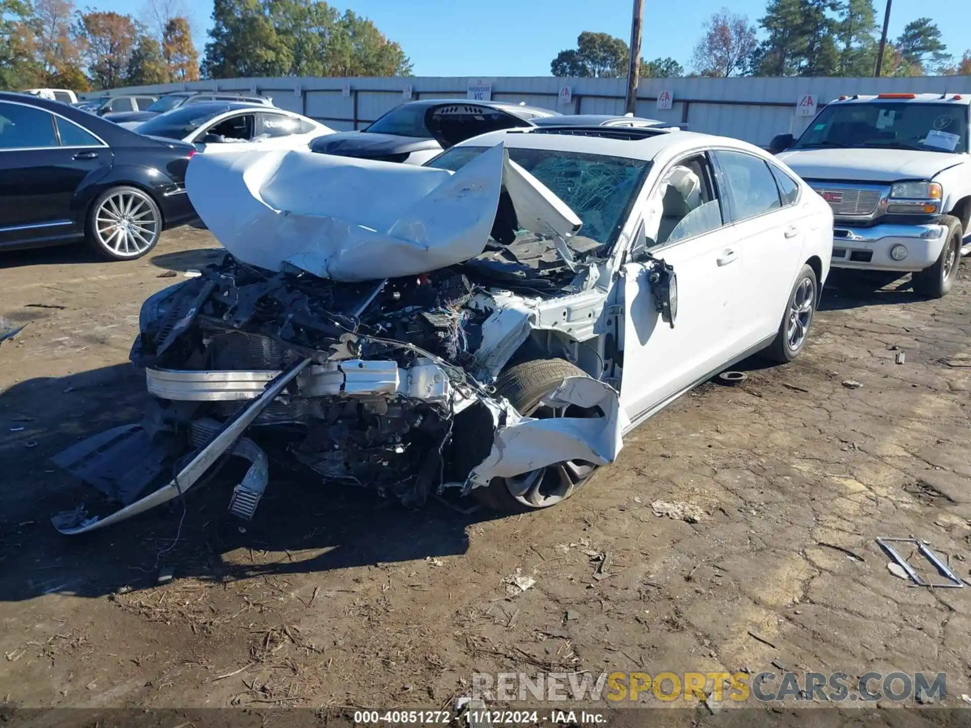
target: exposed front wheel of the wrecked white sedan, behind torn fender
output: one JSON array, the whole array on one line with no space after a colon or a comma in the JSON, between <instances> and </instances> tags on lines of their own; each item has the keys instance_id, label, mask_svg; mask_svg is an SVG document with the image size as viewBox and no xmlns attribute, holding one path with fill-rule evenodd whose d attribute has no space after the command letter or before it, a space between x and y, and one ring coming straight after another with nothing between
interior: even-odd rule
<instances>
[{"instance_id":1,"label":"exposed front wheel of the wrecked white sedan, behind torn fender","mask_svg":"<svg viewBox=\"0 0 971 728\"><path fill-rule=\"evenodd\" d=\"M563 359L536 359L510 367L496 381L496 393L530 417L599 416L579 407L552 408L541 401L568 377L586 377L579 367ZM523 473L515 478L494 478L472 495L496 511L533 511L550 508L584 486L597 466L583 460L569 460Z\"/></svg>"}]
</instances>

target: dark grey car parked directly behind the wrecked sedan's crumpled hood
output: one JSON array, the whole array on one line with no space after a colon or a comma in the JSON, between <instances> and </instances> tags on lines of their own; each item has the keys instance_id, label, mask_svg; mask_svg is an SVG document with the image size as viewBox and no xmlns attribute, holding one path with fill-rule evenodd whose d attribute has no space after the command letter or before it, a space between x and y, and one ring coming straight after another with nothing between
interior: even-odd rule
<instances>
[{"instance_id":1,"label":"dark grey car parked directly behind the wrecked sedan's crumpled hood","mask_svg":"<svg viewBox=\"0 0 971 728\"><path fill-rule=\"evenodd\" d=\"M499 129L532 126L557 112L524 104L422 99L401 104L362 131L318 137L311 151L385 162L424 164L452 145Z\"/></svg>"}]
</instances>

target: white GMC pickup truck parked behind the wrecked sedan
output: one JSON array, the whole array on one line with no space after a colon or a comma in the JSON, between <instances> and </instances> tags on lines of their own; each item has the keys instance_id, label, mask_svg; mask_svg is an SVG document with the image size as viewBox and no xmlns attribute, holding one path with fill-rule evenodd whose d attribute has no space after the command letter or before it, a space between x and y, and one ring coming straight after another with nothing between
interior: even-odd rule
<instances>
[{"instance_id":1,"label":"white GMC pickup truck parked behind the wrecked sedan","mask_svg":"<svg viewBox=\"0 0 971 728\"><path fill-rule=\"evenodd\" d=\"M772 140L833 209L833 267L912 273L914 289L932 298L951 290L971 221L969 101L842 96L798 140Z\"/></svg>"}]
</instances>

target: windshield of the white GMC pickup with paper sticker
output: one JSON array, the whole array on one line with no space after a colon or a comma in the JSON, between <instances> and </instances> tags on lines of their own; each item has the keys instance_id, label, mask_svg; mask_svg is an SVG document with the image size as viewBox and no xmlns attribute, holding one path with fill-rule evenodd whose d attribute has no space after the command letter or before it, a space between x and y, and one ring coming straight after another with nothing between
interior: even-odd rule
<instances>
[{"instance_id":1,"label":"windshield of the white GMC pickup with paper sticker","mask_svg":"<svg viewBox=\"0 0 971 728\"><path fill-rule=\"evenodd\" d=\"M950 104L830 104L792 149L968 150L968 108Z\"/></svg>"}]
</instances>

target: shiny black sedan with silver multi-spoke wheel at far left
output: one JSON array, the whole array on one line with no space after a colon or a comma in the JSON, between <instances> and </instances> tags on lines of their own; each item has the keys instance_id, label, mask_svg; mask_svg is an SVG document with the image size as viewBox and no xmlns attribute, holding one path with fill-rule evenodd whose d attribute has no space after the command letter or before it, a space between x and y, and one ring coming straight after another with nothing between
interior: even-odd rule
<instances>
[{"instance_id":1,"label":"shiny black sedan with silver multi-spoke wheel at far left","mask_svg":"<svg viewBox=\"0 0 971 728\"><path fill-rule=\"evenodd\" d=\"M86 240L131 260L197 218L185 194L195 148L65 104L0 92L0 248Z\"/></svg>"}]
</instances>

